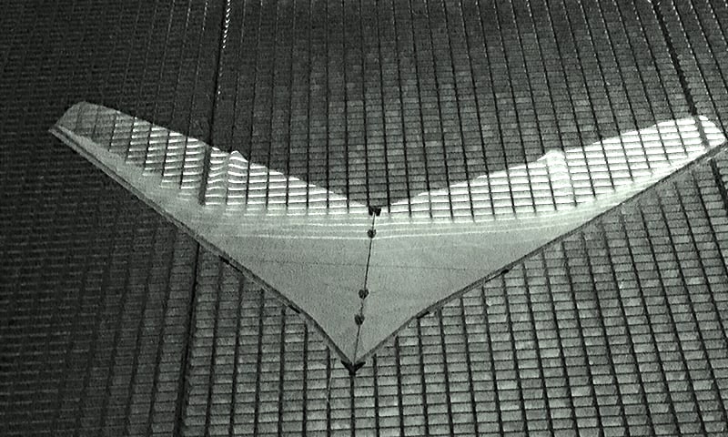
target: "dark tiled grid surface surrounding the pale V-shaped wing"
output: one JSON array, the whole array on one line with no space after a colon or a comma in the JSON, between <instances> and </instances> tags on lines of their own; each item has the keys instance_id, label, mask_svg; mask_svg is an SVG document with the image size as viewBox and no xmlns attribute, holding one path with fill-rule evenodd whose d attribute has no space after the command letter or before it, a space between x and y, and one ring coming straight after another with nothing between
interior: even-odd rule
<instances>
[{"instance_id":1,"label":"dark tiled grid surface surrounding the pale V-shaped wing","mask_svg":"<svg viewBox=\"0 0 728 437\"><path fill-rule=\"evenodd\" d=\"M387 202L691 106L726 131L726 20L709 0L4 2L0 433L724 435L723 156L350 380L46 129L96 101Z\"/></svg>"}]
</instances>

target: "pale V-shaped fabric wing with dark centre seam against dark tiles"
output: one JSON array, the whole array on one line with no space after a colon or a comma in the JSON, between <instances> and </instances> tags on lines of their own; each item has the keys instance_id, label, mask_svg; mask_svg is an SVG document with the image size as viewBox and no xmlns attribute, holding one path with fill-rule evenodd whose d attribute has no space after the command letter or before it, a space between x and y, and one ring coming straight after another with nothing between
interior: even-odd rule
<instances>
[{"instance_id":1,"label":"pale V-shaped fabric wing with dark centre seam against dark tiles","mask_svg":"<svg viewBox=\"0 0 728 437\"><path fill-rule=\"evenodd\" d=\"M86 102L51 133L319 328L345 364L723 145L686 117L369 206Z\"/></svg>"}]
</instances>

